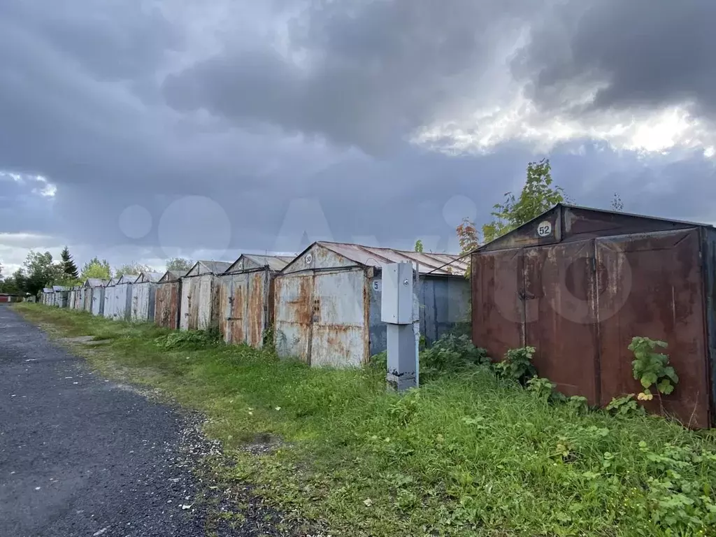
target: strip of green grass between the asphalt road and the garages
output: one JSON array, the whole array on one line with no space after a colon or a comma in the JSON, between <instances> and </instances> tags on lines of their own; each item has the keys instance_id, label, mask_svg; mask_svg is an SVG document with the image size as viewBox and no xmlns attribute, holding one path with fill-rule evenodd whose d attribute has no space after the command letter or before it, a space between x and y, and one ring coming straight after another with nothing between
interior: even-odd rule
<instances>
[{"instance_id":1,"label":"strip of green grass between the asphalt road and the garages","mask_svg":"<svg viewBox=\"0 0 716 537\"><path fill-rule=\"evenodd\" d=\"M711 433L551 405L487 367L400 397L370 369L309 369L203 336L172 347L151 324L16 309L65 337L107 339L78 352L204 412L237 462L223 475L333 535L716 534ZM249 449L264 444L276 449Z\"/></svg>"}]
</instances>

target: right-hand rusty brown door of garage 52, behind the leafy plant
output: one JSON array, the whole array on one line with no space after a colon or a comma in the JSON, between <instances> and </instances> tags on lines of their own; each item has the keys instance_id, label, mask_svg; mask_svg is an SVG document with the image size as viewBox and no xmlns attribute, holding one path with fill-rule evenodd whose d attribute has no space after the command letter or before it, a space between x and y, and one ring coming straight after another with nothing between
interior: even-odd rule
<instances>
[{"instance_id":1,"label":"right-hand rusty brown door of garage 52, behind the leafy plant","mask_svg":"<svg viewBox=\"0 0 716 537\"><path fill-rule=\"evenodd\" d=\"M627 349L632 337L662 339L679 375L676 390L662 399L664 410L686 425L709 427L698 230L600 238L596 253L605 281L599 296L601 404L642 390ZM657 398L649 404L659 411Z\"/></svg>"}]
</instances>

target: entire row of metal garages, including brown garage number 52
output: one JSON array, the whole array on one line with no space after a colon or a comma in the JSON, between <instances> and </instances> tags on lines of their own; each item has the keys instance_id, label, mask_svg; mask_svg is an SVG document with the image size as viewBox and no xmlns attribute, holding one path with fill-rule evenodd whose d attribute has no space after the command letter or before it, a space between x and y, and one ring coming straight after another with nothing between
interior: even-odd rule
<instances>
[{"instance_id":1,"label":"entire row of metal garages, including brown garage number 52","mask_svg":"<svg viewBox=\"0 0 716 537\"><path fill-rule=\"evenodd\" d=\"M668 344L679 382L645 406L692 427L716 421L716 228L700 223L561 203L477 248L469 281L455 256L319 241L298 256L199 261L187 274L46 289L43 300L171 329L216 327L253 347L272 327L281 356L359 365L386 348L381 270L397 261L420 275L427 343L471 324L491 357L535 347L542 377L604 406L642 391L628 347L649 337Z\"/></svg>"}]
</instances>

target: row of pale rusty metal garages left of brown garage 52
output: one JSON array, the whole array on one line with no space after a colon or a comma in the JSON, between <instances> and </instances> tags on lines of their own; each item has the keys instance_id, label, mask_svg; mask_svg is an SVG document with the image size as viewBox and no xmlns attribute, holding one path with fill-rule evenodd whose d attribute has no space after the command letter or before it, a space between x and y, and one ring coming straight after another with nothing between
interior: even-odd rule
<instances>
[{"instance_id":1,"label":"row of pale rusty metal garages left of brown garage 52","mask_svg":"<svg viewBox=\"0 0 716 537\"><path fill-rule=\"evenodd\" d=\"M313 243L299 256L242 254L233 263L198 261L185 274L55 286L44 289L42 301L169 329L217 329L227 343L257 348L271 334L280 356L357 366L387 347L380 276L384 264L398 261L417 269L420 329L427 342L469 325L467 265L456 256L328 241Z\"/></svg>"}]
</instances>

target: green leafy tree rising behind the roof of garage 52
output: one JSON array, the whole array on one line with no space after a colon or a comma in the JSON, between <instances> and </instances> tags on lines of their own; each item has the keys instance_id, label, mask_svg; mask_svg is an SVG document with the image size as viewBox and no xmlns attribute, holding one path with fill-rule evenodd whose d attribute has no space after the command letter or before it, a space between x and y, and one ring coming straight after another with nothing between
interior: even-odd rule
<instances>
[{"instance_id":1,"label":"green leafy tree rising behind the roof of garage 52","mask_svg":"<svg viewBox=\"0 0 716 537\"><path fill-rule=\"evenodd\" d=\"M505 194L504 203L495 203L491 213L493 221L483 226L485 242L494 241L508 231L531 221L548 211L553 205L565 199L560 186L552 186L551 165L543 158L539 162L528 163L527 180L519 198L511 192Z\"/></svg>"}]
</instances>

